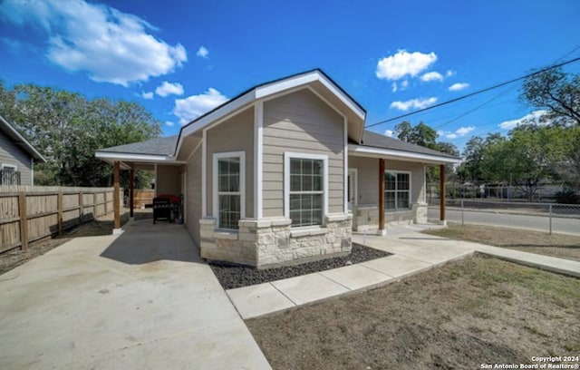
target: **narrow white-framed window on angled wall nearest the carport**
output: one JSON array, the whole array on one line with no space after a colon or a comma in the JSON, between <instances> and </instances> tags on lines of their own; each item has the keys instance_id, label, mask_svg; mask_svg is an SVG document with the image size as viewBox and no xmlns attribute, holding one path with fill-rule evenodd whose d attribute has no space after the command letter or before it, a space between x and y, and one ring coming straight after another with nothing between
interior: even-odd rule
<instances>
[{"instance_id":1,"label":"narrow white-framed window on angled wall nearest the carport","mask_svg":"<svg viewBox=\"0 0 580 370\"><path fill-rule=\"evenodd\" d=\"M218 229L238 229L237 221L245 217L245 153L214 154L213 201Z\"/></svg>"}]
</instances>

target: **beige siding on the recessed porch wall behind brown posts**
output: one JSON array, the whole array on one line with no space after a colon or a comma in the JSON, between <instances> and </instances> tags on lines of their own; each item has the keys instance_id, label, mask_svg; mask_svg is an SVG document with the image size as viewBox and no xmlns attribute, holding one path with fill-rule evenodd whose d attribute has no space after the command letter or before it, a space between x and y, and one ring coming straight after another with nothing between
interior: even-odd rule
<instances>
[{"instance_id":1,"label":"beige siding on the recessed porch wall behind brown posts","mask_svg":"<svg viewBox=\"0 0 580 370\"><path fill-rule=\"evenodd\" d=\"M349 157L348 167L358 174L358 204L379 204L379 160L376 158ZM385 170L411 172L411 203L424 200L423 164L405 161L384 161Z\"/></svg>"}]
</instances>

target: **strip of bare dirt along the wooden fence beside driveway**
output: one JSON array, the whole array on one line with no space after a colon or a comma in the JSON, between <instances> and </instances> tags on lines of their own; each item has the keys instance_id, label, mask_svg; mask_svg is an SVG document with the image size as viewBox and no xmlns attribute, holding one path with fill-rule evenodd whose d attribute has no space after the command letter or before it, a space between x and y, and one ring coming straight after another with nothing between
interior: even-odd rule
<instances>
[{"instance_id":1,"label":"strip of bare dirt along the wooden fence beside driveway","mask_svg":"<svg viewBox=\"0 0 580 370\"><path fill-rule=\"evenodd\" d=\"M150 209L135 209L135 219L152 218ZM121 225L129 220L129 211L121 214ZM47 238L34 242L28 246L28 252L14 249L0 254L0 275L16 268L29 260L42 256L49 250L62 246L73 238L94 237L99 235L111 235L113 229L113 214L102 216L81 226L69 229L61 237Z\"/></svg>"}]
</instances>

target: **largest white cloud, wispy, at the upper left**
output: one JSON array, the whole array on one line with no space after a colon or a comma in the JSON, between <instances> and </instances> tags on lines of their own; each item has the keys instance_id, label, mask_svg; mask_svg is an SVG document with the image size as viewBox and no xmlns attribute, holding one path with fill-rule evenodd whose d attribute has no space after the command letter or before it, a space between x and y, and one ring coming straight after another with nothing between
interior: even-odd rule
<instances>
[{"instance_id":1,"label":"largest white cloud, wispy, at the upper left","mask_svg":"<svg viewBox=\"0 0 580 370\"><path fill-rule=\"evenodd\" d=\"M6 0L0 15L48 34L47 58L70 72L84 71L96 82L129 83L171 73L188 60L174 46L150 34L156 28L136 15L83 0Z\"/></svg>"}]
</instances>

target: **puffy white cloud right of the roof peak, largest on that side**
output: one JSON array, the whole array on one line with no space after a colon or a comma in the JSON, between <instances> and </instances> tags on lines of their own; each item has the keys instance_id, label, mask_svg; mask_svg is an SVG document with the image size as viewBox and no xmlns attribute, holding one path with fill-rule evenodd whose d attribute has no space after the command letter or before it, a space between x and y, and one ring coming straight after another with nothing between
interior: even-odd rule
<instances>
[{"instance_id":1,"label":"puffy white cloud right of the roof peak, largest on that side","mask_svg":"<svg viewBox=\"0 0 580 370\"><path fill-rule=\"evenodd\" d=\"M405 76L415 77L437 61L437 54L409 53L400 50L396 54L382 58L377 63L376 76L384 80L401 80Z\"/></svg>"}]
</instances>

